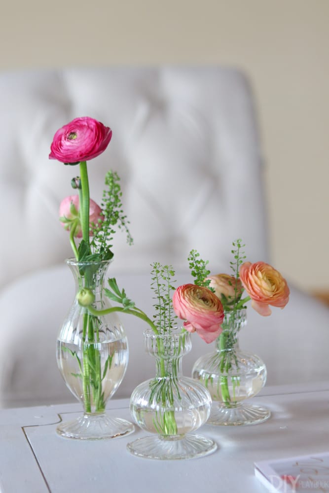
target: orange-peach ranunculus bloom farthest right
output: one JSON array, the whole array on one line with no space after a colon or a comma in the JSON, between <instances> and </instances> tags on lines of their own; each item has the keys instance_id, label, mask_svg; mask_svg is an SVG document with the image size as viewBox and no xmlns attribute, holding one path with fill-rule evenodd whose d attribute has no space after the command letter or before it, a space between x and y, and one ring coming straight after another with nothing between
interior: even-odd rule
<instances>
[{"instance_id":1,"label":"orange-peach ranunculus bloom farthest right","mask_svg":"<svg viewBox=\"0 0 329 493\"><path fill-rule=\"evenodd\" d=\"M239 270L241 282L260 315L271 315L269 305L284 308L289 301L289 287L280 272L265 262L245 262Z\"/></svg>"}]
</instances>

